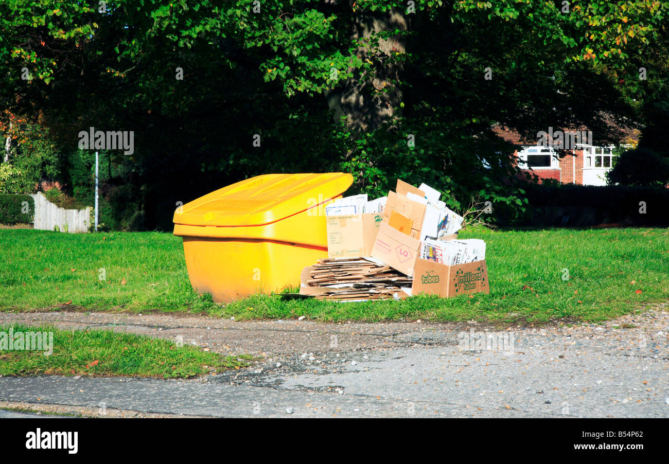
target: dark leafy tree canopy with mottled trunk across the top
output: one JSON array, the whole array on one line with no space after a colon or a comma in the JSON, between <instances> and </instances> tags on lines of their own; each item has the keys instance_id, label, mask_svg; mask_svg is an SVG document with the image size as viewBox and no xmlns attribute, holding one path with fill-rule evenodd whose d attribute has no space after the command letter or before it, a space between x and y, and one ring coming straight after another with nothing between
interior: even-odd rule
<instances>
[{"instance_id":1,"label":"dark leafy tree canopy with mottled trunk across the top","mask_svg":"<svg viewBox=\"0 0 669 464\"><path fill-rule=\"evenodd\" d=\"M40 174L71 192L90 181L81 130L134 131L134 154L105 154L106 198L149 228L265 172L346 170L371 194L402 177L454 208L517 205L512 148L492 126L619 142L616 127L650 126L648 102L666 101L666 1L57 6L0 3L2 109L45 128L58 159Z\"/></svg>"}]
</instances>

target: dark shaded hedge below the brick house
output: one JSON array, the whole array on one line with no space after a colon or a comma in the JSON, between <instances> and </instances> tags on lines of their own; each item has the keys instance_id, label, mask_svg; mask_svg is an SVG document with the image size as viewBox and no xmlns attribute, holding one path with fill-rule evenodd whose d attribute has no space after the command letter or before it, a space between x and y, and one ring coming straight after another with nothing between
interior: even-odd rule
<instances>
[{"instance_id":1,"label":"dark shaded hedge below the brick house","mask_svg":"<svg viewBox=\"0 0 669 464\"><path fill-rule=\"evenodd\" d=\"M529 207L519 225L669 226L669 189L661 187L535 184L526 195Z\"/></svg>"}]
</instances>

